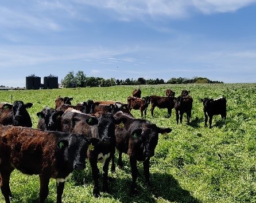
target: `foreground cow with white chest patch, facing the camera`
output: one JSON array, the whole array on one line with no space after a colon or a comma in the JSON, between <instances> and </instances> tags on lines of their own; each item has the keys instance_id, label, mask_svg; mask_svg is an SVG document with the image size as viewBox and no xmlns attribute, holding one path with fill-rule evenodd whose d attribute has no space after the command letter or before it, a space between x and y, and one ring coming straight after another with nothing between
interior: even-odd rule
<instances>
[{"instance_id":1,"label":"foreground cow with white chest patch, facing the camera","mask_svg":"<svg viewBox=\"0 0 256 203\"><path fill-rule=\"evenodd\" d=\"M62 120L63 132L88 133L91 139L94 138L94 142L89 146L87 152L94 180L93 194L95 197L100 196L98 162L102 164L102 191L108 193L108 166L115 154L115 124L125 122L126 118L114 118L111 113L103 113L96 118L75 109L68 109L64 112ZM87 125L90 122L97 125ZM112 171L113 165L114 163L111 165Z\"/></svg>"}]
</instances>

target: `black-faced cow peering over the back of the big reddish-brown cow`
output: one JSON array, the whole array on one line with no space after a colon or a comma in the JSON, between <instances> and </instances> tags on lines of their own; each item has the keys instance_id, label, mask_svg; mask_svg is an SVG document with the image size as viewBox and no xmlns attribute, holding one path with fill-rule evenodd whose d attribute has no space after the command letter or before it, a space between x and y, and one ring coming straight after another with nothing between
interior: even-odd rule
<instances>
[{"instance_id":1,"label":"black-faced cow peering over the back of the big reddish-brown cow","mask_svg":"<svg viewBox=\"0 0 256 203\"><path fill-rule=\"evenodd\" d=\"M63 111L57 111L46 106L41 112L37 113L37 128L42 130L61 131L61 116L63 113Z\"/></svg>"}]
</instances>

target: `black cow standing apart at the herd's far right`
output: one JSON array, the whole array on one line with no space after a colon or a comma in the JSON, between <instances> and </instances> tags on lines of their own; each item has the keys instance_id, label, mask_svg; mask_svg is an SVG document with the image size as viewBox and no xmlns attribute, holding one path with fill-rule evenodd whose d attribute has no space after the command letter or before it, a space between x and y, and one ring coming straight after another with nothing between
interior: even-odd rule
<instances>
[{"instance_id":1,"label":"black cow standing apart at the herd's far right","mask_svg":"<svg viewBox=\"0 0 256 203\"><path fill-rule=\"evenodd\" d=\"M218 99L204 98L199 99L203 102L204 106L204 126L207 127L207 121L209 117L209 125L212 128L212 117L214 115L220 115L223 119L227 117L227 99L220 97Z\"/></svg>"}]
</instances>

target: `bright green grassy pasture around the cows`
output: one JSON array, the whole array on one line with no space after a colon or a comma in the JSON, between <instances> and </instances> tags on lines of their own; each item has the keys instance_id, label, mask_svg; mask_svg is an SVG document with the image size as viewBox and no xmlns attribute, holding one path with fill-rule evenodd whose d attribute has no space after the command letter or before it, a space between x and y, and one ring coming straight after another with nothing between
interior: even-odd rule
<instances>
[{"instance_id":1,"label":"bright green grassy pasture around the cows","mask_svg":"<svg viewBox=\"0 0 256 203\"><path fill-rule=\"evenodd\" d=\"M28 109L36 128L40 112L45 106L55 108L58 95L73 97L72 104L94 100L127 102L131 91L138 86L86 87L82 89L14 90L0 91L0 102L22 100L32 102ZM188 85L145 85L140 86L142 97L165 95L165 89L191 91L193 110L191 125L176 124L174 109L167 116L166 109L154 110L154 118L148 108L147 119L161 127L170 127L172 132L161 135L156 153L150 160L152 188L144 182L142 164L138 164L139 194L130 197L130 165L123 154L124 168L109 173L110 194L92 196L93 181L91 168L75 172L66 181L63 202L256 202L256 84L188 84ZM12 95L12 100L11 100ZM204 127L203 104L199 98L227 98L227 119L214 116L212 129ZM139 118L139 110L131 110ZM99 165L100 166L100 165ZM38 176L26 176L17 170L11 174L13 203L37 202ZM56 182L49 184L46 202L56 201ZM0 202L4 202L2 194Z\"/></svg>"}]
</instances>

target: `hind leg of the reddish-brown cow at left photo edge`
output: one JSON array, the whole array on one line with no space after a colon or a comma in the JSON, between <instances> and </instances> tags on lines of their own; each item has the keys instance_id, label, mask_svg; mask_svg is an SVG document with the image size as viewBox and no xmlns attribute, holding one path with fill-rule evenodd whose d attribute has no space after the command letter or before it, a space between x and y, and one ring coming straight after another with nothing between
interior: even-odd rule
<instances>
[{"instance_id":1,"label":"hind leg of the reddish-brown cow at left photo edge","mask_svg":"<svg viewBox=\"0 0 256 203\"><path fill-rule=\"evenodd\" d=\"M6 203L10 203L11 189L10 189L10 175L13 169L0 172L0 187Z\"/></svg>"}]
</instances>

